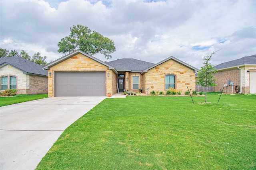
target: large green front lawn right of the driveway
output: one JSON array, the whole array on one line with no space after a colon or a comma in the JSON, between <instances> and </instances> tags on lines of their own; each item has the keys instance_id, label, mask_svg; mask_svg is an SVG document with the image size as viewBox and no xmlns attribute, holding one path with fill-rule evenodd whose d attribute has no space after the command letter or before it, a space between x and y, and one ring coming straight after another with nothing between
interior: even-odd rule
<instances>
[{"instance_id":1,"label":"large green front lawn right of the driveway","mask_svg":"<svg viewBox=\"0 0 256 170\"><path fill-rule=\"evenodd\" d=\"M41 169L256 169L256 95L107 98L68 127Z\"/></svg>"}]
</instances>

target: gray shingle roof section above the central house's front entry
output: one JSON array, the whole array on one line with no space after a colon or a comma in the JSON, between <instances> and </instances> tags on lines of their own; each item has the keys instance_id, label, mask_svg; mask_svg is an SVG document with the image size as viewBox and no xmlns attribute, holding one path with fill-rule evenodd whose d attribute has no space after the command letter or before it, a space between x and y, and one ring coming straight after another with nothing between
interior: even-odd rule
<instances>
[{"instance_id":1,"label":"gray shingle roof section above the central house's front entry","mask_svg":"<svg viewBox=\"0 0 256 170\"><path fill-rule=\"evenodd\" d=\"M136 59L118 59L114 61L105 62L116 68L117 71L136 71L142 72L142 70L154 65L154 63L149 63L146 61L136 60Z\"/></svg>"}]
</instances>

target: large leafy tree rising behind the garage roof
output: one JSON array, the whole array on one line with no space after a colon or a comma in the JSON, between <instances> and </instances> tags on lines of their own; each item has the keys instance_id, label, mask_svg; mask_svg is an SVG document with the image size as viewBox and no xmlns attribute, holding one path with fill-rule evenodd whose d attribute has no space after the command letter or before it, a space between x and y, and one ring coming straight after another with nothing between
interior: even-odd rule
<instances>
[{"instance_id":1,"label":"large leafy tree rising behind the garage roof","mask_svg":"<svg viewBox=\"0 0 256 170\"><path fill-rule=\"evenodd\" d=\"M100 53L106 59L111 59L112 55L110 54L116 51L113 40L104 37L96 31L91 31L86 26L73 26L73 28L70 28L70 31L70 35L62 38L58 43L59 53L66 54L79 49L89 55Z\"/></svg>"}]
</instances>

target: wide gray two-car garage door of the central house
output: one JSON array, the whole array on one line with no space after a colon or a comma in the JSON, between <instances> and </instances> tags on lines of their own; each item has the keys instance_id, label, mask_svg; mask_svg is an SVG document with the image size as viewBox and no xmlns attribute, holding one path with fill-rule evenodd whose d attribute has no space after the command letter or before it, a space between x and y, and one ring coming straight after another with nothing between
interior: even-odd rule
<instances>
[{"instance_id":1,"label":"wide gray two-car garage door of the central house","mask_svg":"<svg viewBox=\"0 0 256 170\"><path fill-rule=\"evenodd\" d=\"M106 96L106 73L56 72L55 96Z\"/></svg>"}]
</instances>

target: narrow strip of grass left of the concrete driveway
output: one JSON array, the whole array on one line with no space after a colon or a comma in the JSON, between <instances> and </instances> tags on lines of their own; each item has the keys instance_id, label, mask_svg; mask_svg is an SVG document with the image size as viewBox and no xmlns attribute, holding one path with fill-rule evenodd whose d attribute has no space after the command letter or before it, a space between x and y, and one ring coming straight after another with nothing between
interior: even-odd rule
<instances>
[{"instance_id":1,"label":"narrow strip of grass left of the concrete driveway","mask_svg":"<svg viewBox=\"0 0 256 170\"><path fill-rule=\"evenodd\" d=\"M48 98L48 94L0 97L0 107L11 105L11 104L22 103L22 102L28 102L31 100L38 100L38 99L42 99L42 98Z\"/></svg>"}]
</instances>

